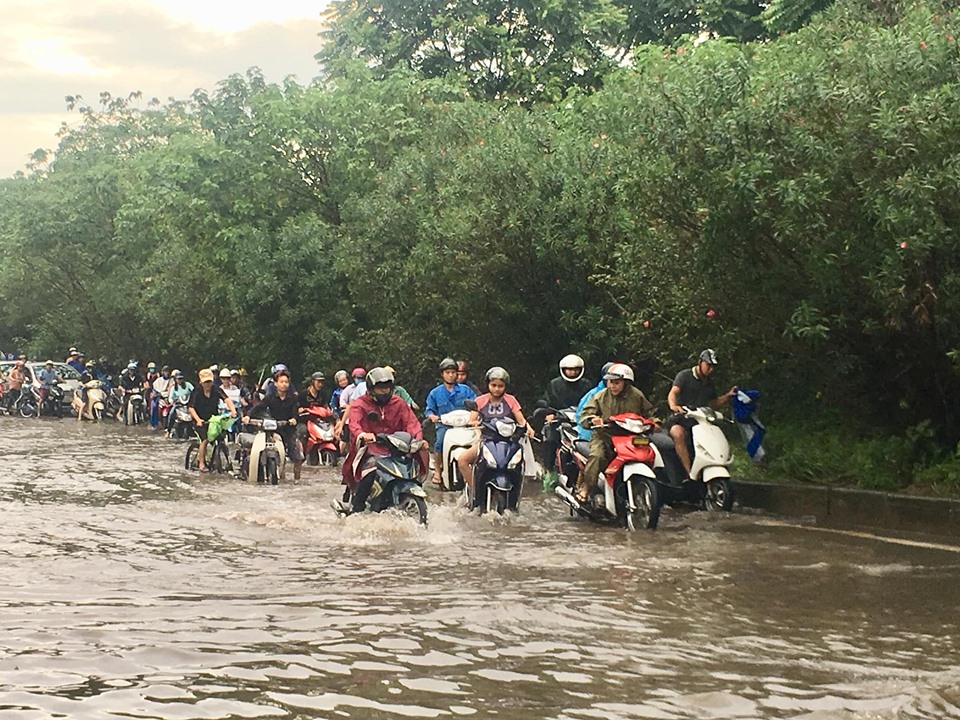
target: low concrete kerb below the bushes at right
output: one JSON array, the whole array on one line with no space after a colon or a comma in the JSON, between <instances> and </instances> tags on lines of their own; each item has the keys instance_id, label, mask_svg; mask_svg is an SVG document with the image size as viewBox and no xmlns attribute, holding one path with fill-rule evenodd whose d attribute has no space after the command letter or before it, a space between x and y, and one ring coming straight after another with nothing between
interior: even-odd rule
<instances>
[{"instance_id":1,"label":"low concrete kerb below the bushes at right","mask_svg":"<svg viewBox=\"0 0 960 720\"><path fill-rule=\"evenodd\" d=\"M960 500L916 497L825 485L734 481L744 507L813 517L818 525L960 537Z\"/></svg>"}]
</instances>

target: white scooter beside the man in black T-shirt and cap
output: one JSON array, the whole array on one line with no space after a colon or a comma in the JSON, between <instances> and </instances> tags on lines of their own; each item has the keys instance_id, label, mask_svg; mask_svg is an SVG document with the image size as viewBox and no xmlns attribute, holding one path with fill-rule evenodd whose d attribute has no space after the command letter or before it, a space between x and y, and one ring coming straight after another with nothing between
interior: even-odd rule
<instances>
[{"instance_id":1,"label":"white scooter beside the man in black T-shirt and cap","mask_svg":"<svg viewBox=\"0 0 960 720\"><path fill-rule=\"evenodd\" d=\"M689 431L687 450L691 457L691 482L676 451L663 453L664 467L658 471L660 490L668 505L690 503L707 510L733 509L733 484L730 464L733 455L730 443L720 424L723 415L713 408L684 408L684 416L696 420Z\"/></svg>"}]
</instances>

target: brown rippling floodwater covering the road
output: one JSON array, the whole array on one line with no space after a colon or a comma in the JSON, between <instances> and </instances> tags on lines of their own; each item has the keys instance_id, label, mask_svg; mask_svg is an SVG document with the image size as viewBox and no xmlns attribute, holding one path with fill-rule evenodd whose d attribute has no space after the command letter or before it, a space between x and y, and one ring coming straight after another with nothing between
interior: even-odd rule
<instances>
[{"instance_id":1,"label":"brown rippling floodwater covering the road","mask_svg":"<svg viewBox=\"0 0 960 720\"><path fill-rule=\"evenodd\" d=\"M337 520L0 418L0 718L960 718L960 554L757 515ZM437 506L436 503L443 503Z\"/></svg>"}]
</instances>

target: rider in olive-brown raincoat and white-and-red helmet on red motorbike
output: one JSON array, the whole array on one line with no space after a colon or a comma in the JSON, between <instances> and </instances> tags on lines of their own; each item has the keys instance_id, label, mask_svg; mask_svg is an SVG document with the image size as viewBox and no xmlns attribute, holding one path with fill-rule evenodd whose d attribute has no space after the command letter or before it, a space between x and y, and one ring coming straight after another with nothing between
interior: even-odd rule
<instances>
[{"instance_id":1,"label":"rider in olive-brown raincoat and white-and-red helmet on red motorbike","mask_svg":"<svg viewBox=\"0 0 960 720\"><path fill-rule=\"evenodd\" d=\"M590 438L590 457L577 485L577 500L584 502L590 488L596 485L600 473L613 459L613 443L610 433L601 427L613 415L636 413L649 417L653 405L633 385L633 370L629 365L614 363L603 376L607 387L594 395L583 409L580 424L593 429Z\"/></svg>"}]
</instances>

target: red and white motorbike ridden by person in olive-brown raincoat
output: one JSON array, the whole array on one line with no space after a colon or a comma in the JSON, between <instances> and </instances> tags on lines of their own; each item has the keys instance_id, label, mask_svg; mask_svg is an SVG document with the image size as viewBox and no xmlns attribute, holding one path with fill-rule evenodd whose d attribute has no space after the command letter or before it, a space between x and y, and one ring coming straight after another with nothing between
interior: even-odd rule
<instances>
[{"instance_id":1,"label":"red and white motorbike ridden by person in olive-brown raincoat","mask_svg":"<svg viewBox=\"0 0 960 720\"><path fill-rule=\"evenodd\" d=\"M652 530L660 521L662 505L657 470L664 467L650 442L656 423L636 413L621 413L604 427L610 431L614 456L599 477L586 478L586 500L577 499L575 478L565 473L554 491L577 515L589 520L613 521L628 530ZM586 445L579 450L586 449L589 455L589 443Z\"/></svg>"}]
</instances>

